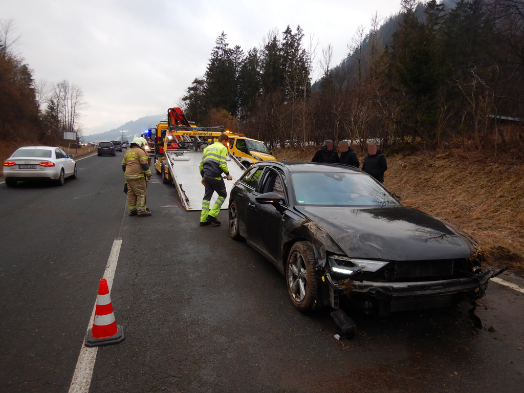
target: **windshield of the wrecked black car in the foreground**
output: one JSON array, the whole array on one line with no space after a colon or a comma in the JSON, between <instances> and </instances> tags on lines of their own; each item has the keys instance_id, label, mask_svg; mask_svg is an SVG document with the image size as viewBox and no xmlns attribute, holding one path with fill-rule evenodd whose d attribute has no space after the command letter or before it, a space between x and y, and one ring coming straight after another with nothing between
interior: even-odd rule
<instances>
[{"instance_id":1,"label":"windshield of the wrecked black car in the foreground","mask_svg":"<svg viewBox=\"0 0 524 393\"><path fill-rule=\"evenodd\" d=\"M297 205L398 206L388 191L364 173L291 174Z\"/></svg>"}]
</instances>

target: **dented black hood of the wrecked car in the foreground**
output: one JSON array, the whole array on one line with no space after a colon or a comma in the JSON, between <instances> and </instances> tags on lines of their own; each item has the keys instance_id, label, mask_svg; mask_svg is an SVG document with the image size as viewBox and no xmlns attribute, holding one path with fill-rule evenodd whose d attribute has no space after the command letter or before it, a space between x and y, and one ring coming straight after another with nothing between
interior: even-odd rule
<instances>
[{"instance_id":1,"label":"dented black hood of the wrecked car in the foreground","mask_svg":"<svg viewBox=\"0 0 524 393\"><path fill-rule=\"evenodd\" d=\"M474 241L419 210L300 206L348 257L384 260L467 258Z\"/></svg>"}]
</instances>

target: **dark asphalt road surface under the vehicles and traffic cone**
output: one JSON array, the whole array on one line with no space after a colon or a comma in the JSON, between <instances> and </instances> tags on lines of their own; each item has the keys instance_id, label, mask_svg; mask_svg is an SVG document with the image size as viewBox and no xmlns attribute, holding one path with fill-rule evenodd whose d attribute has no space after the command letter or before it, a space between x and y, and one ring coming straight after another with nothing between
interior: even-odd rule
<instances>
[{"instance_id":1,"label":"dark asphalt road surface under the vehicles and traffic cone","mask_svg":"<svg viewBox=\"0 0 524 393\"><path fill-rule=\"evenodd\" d=\"M0 183L0 391L69 391L115 239L125 340L96 348L90 392L522 391L524 293L490 283L481 328L462 304L353 314L356 337L336 340L328 312L296 311L276 269L229 238L225 210L199 227L154 174L152 216L128 217L123 154L81 157L63 187Z\"/></svg>"}]
</instances>

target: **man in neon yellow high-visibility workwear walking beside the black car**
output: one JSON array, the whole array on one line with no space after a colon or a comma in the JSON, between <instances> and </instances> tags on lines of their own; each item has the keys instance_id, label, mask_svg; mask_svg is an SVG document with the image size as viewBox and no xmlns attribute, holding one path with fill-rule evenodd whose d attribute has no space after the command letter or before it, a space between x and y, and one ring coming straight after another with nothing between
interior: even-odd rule
<instances>
[{"instance_id":1,"label":"man in neon yellow high-visibility workwear walking beside the black car","mask_svg":"<svg viewBox=\"0 0 524 393\"><path fill-rule=\"evenodd\" d=\"M202 153L202 161L200 161L199 169L205 193L204 199L202 200L200 226L210 224L220 225L220 221L216 219L216 216L219 215L220 208L227 196L222 172L226 175L227 180L233 180L226 163L228 140L229 137L226 134L221 134L219 140L213 145L206 147ZM210 210L211 196L213 196L213 192L215 191L219 196Z\"/></svg>"}]
</instances>

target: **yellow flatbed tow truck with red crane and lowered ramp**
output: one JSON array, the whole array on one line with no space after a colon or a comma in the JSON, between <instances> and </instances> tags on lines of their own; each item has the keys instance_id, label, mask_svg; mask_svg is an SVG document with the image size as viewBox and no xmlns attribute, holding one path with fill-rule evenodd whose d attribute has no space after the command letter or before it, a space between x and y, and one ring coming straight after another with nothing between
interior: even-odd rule
<instances>
[{"instance_id":1,"label":"yellow flatbed tow truck with red crane and lowered ramp","mask_svg":"<svg viewBox=\"0 0 524 393\"><path fill-rule=\"evenodd\" d=\"M163 146L163 154L155 160L155 171L162 177L163 183L173 183L177 188L178 196L184 209L202 210L202 198L204 196L204 186L201 183L200 162L202 161L203 149L208 146L210 140L202 140L198 135L214 136L220 135L223 127L194 127L187 122L171 122L174 116L179 116L176 112L173 115L171 110L179 108L170 108L168 110L169 127ZM170 117L171 115L171 117ZM183 116L183 114L182 114ZM180 118L180 117L179 117ZM174 123L174 124L173 124ZM227 167L233 177L233 181L226 181L227 198L222 204L223 209L227 209L230 192L233 184L238 180L245 171L242 163L231 153L228 153L226 159ZM216 196L213 197L211 204L214 203Z\"/></svg>"}]
</instances>

